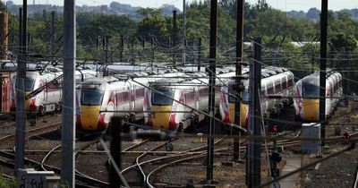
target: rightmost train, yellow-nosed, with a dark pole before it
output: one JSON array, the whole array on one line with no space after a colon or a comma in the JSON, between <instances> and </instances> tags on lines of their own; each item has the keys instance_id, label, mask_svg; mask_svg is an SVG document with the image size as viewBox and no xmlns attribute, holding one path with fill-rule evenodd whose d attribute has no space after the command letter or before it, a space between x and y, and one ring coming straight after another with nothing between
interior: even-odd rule
<instances>
[{"instance_id":1,"label":"rightmost train, yellow-nosed, with a dark pole before it","mask_svg":"<svg viewBox=\"0 0 358 188\"><path fill-rule=\"evenodd\" d=\"M312 73L295 84L294 111L297 121L316 123L320 120L320 73ZM342 75L328 71L326 76L325 117L332 115L343 94Z\"/></svg>"}]
</instances>

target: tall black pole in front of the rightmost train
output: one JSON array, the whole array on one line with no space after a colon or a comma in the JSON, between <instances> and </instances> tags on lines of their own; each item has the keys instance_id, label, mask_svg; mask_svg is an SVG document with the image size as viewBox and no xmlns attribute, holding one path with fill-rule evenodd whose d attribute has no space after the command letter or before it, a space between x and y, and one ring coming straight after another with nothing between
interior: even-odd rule
<instances>
[{"instance_id":1,"label":"tall black pole in front of the rightmost train","mask_svg":"<svg viewBox=\"0 0 358 188\"><path fill-rule=\"evenodd\" d=\"M326 137L326 63L327 63L327 20L328 0L322 0L322 13L320 13L320 135L321 146L325 145Z\"/></svg>"}]
</instances>

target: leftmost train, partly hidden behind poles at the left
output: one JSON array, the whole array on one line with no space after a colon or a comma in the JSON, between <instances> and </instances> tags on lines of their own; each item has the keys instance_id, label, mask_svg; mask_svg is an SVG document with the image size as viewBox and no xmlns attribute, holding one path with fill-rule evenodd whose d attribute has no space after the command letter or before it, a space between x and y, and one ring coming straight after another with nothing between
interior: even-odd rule
<instances>
[{"instance_id":1,"label":"leftmost train, partly hidden behind poles at the left","mask_svg":"<svg viewBox=\"0 0 358 188\"><path fill-rule=\"evenodd\" d=\"M51 67L43 73L36 70L28 71L24 79L25 109L29 115L45 114L60 111L62 101L63 72L61 69ZM96 77L92 70L76 70L77 83ZM10 91L10 111L16 111L15 98L16 74L13 73Z\"/></svg>"}]
</instances>

